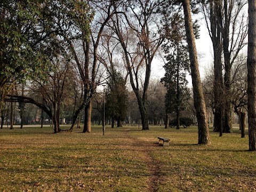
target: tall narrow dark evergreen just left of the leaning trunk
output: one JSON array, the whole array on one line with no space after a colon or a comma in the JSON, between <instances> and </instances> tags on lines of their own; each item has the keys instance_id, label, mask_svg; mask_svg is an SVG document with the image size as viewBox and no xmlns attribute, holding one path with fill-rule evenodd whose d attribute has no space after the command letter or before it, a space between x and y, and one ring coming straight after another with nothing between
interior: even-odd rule
<instances>
[{"instance_id":1,"label":"tall narrow dark evergreen just left of the leaning trunk","mask_svg":"<svg viewBox=\"0 0 256 192\"><path fill-rule=\"evenodd\" d=\"M164 65L165 76L161 79L167 89L165 109L167 114L176 113L177 129L180 125L180 111L186 109L190 98L186 79L186 74L189 71L189 55L185 43L186 34L182 26L184 26L183 18L178 15L171 26L172 34L162 46L167 60Z\"/></svg>"}]
</instances>

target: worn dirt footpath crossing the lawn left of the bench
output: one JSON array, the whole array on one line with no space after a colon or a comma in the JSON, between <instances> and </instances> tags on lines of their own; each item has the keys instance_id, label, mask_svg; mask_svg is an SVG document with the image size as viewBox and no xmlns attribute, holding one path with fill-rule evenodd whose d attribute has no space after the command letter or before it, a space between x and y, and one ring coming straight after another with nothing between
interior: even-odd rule
<instances>
[{"instance_id":1,"label":"worn dirt footpath crossing the lawn left of the bench","mask_svg":"<svg viewBox=\"0 0 256 192\"><path fill-rule=\"evenodd\" d=\"M143 156L143 161L146 163L148 170L150 172L150 177L148 180L148 191L149 192L155 192L158 191L159 183L161 183L161 179L163 178L163 175L161 175L161 165L159 162L155 161L153 157L150 155L150 151L156 150L155 143L147 142L147 141L141 141L137 138L131 137L129 134L129 129L124 130L123 132L124 137L128 138L131 143L133 144L133 149L140 152L140 154Z\"/></svg>"}]
</instances>

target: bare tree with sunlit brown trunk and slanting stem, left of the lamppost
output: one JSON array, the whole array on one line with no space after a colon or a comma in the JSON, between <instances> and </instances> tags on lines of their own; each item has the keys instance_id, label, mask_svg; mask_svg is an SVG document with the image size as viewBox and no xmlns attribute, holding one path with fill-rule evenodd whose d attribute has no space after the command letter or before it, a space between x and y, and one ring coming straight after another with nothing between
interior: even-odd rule
<instances>
[{"instance_id":1,"label":"bare tree with sunlit brown trunk and slanting stem, left of the lamppost","mask_svg":"<svg viewBox=\"0 0 256 192\"><path fill-rule=\"evenodd\" d=\"M65 41L68 42L69 51L73 55L74 62L77 65L79 75L84 84L84 100L74 114L73 124L70 129L73 129L77 117L81 115L84 109L85 124L83 132L91 132L91 99L100 81L97 76L99 71L97 52L103 30L107 22L115 14L115 10L113 9L114 3L114 1L87 1L87 5L90 5L95 11L94 19L90 25L86 26L88 23L84 23L84 19L87 15L84 15L85 12L82 10L83 6L81 6L81 10L79 11L78 9L77 15L75 15L77 17L68 19L68 21L74 22L77 33L74 34L74 32L70 33L70 31L66 32L65 30L61 30L63 31L61 35ZM65 25L59 25L61 29L65 27ZM83 57L79 58L78 55L81 53Z\"/></svg>"}]
</instances>

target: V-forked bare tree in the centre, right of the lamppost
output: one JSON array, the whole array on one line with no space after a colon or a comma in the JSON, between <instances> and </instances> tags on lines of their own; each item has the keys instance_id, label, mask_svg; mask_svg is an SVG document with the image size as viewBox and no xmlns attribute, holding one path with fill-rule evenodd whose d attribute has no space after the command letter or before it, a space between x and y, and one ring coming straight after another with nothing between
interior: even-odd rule
<instances>
[{"instance_id":1,"label":"V-forked bare tree in the centre, right of the lamppost","mask_svg":"<svg viewBox=\"0 0 256 192\"><path fill-rule=\"evenodd\" d=\"M146 101L152 60L165 39L166 22L170 22L166 15L157 12L161 2L125 1L119 6L122 14L116 14L113 19L113 29L121 43L130 83L137 97L143 130L149 129ZM141 70L145 70L143 77L139 76Z\"/></svg>"}]
</instances>

